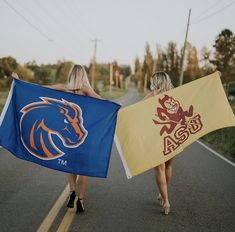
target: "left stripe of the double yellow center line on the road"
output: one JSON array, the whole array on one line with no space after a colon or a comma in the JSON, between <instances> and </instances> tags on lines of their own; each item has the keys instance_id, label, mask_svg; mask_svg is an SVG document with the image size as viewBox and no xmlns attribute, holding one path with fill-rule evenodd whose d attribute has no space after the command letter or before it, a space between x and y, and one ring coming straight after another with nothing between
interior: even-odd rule
<instances>
[{"instance_id":1,"label":"left stripe of the double yellow center line on the road","mask_svg":"<svg viewBox=\"0 0 235 232\"><path fill-rule=\"evenodd\" d=\"M47 232L51 228L57 214L59 213L62 206L64 206L65 201L68 198L69 195L69 185L65 187L59 198L57 199L54 206L51 208L50 212L46 216L46 218L43 220L42 224L38 228L37 232Z\"/></svg>"}]
</instances>

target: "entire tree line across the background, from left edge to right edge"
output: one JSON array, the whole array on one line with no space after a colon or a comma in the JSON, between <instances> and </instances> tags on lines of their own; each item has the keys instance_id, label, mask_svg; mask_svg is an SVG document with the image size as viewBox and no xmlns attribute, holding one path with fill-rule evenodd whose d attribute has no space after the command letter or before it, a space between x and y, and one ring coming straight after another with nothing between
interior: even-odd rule
<instances>
[{"instance_id":1,"label":"entire tree line across the background, from left edge to right edge","mask_svg":"<svg viewBox=\"0 0 235 232\"><path fill-rule=\"evenodd\" d=\"M198 54L195 46L187 43L186 59L184 65L183 83L188 83L199 77L219 70L222 73L222 81L228 89L232 82L235 83L235 35L229 29L222 30L215 38L213 49L203 47ZM147 90L150 87L150 77L154 71L167 72L176 87L179 85L181 72L182 49L177 48L175 42L169 42L166 48L156 46L153 54L147 43L143 62L137 57L134 61L132 78L138 89ZM11 84L11 73L17 72L26 81L38 84L66 83L72 61L59 60L56 64L38 65L30 61L21 65L11 56L0 58L0 90L8 89ZM96 89L102 90L107 86L126 88L123 80L131 76L130 65L120 65L117 61L110 63L91 62L84 66L91 83ZM235 86L234 86L235 91Z\"/></svg>"}]
</instances>

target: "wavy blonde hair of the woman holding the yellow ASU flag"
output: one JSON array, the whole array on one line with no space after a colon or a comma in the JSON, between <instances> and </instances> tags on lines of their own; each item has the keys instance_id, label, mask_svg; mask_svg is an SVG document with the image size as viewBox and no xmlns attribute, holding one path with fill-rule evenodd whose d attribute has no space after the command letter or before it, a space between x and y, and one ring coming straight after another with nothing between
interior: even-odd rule
<instances>
[{"instance_id":1,"label":"wavy blonde hair of the woman holding the yellow ASU flag","mask_svg":"<svg viewBox=\"0 0 235 232\"><path fill-rule=\"evenodd\" d=\"M171 83L171 79L166 72L158 71L152 75L150 86L152 91L155 90L157 94L160 94L173 88L174 86Z\"/></svg>"}]
</instances>

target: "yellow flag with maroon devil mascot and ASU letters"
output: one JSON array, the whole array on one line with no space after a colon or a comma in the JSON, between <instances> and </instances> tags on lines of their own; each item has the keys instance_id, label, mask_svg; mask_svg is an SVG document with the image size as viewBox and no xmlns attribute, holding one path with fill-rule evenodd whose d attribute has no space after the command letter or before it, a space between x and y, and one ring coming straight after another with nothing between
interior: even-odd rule
<instances>
[{"instance_id":1,"label":"yellow flag with maroon devil mascot and ASU letters","mask_svg":"<svg viewBox=\"0 0 235 232\"><path fill-rule=\"evenodd\" d=\"M201 136L235 126L218 72L121 109L116 145L127 178L174 157Z\"/></svg>"}]
</instances>

